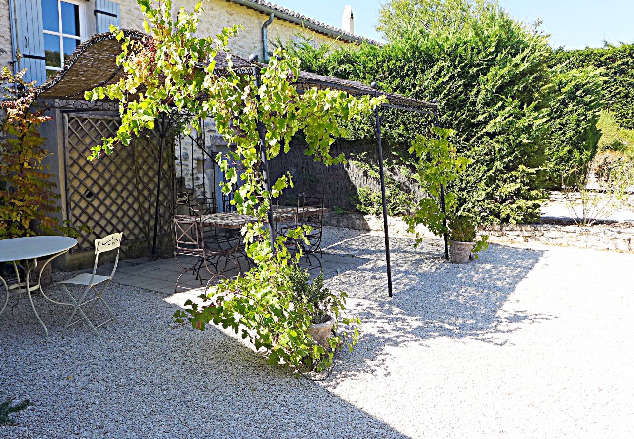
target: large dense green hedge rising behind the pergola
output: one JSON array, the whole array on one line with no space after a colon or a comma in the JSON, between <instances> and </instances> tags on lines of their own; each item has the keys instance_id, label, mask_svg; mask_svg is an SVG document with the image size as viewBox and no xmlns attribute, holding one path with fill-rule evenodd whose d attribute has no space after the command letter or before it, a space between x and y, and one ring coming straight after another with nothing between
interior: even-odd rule
<instances>
[{"instance_id":1,"label":"large dense green hedge rising behind the pergola","mask_svg":"<svg viewBox=\"0 0 634 439\"><path fill-rule=\"evenodd\" d=\"M381 90L420 100L437 98L441 126L456 131L452 142L459 154L473 159L449 190L458 196L461 211L487 223L536 220L545 190L592 160L605 102L621 117L631 110L626 103L634 93L634 69L618 81L612 75L620 75L633 58L619 58L616 66L610 61L628 50L553 51L548 36L500 9L460 30L411 30L385 46L295 49L304 70L377 81ZM590 58L600 62L586 62ZM621 89L626 84L630 87ZM418 114L387 110L384 138L391 159L407 163L411 140L428 133L431 123ZM373 136L369 123L349 131L349 140Z\"/></svg>"}]
</instances>

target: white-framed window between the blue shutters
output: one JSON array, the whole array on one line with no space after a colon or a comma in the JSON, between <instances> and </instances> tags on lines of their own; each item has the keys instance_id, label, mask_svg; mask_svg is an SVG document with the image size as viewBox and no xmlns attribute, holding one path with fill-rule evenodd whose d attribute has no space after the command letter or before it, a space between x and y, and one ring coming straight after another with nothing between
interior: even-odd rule
<instances>
[{"instance_id":1,"label":"white-framed window between the blue shutters","mask_svg":"<svg viewBox=\"0 0 634 439\"><path fill-rule=\"evenodd\" d=\"M41 0L46 76L55 75L86 39L85 0Z\"/></svg>"}]
</instances>

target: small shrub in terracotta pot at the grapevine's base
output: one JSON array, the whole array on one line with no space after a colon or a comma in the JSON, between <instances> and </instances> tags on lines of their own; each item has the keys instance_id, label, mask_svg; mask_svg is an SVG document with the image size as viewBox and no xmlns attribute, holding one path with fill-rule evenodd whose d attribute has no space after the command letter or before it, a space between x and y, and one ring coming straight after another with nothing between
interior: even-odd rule
<instances>
[{"instance_id":1,"label":"small shrub in terracotta pot at the grapevine's base","mask_svg":"<svg viewBox=\"0 0 634 439\"><path fill-rule=\"evenodd\" d=\"M337 317L345 309L346 293L333 294L323 285L323 272L312 282L308 270L294 266L290 272L295 306L302 306L310 318L307 330L316 344L327 348L328 339L337 329Z\"/></svg>"}]
</instances>

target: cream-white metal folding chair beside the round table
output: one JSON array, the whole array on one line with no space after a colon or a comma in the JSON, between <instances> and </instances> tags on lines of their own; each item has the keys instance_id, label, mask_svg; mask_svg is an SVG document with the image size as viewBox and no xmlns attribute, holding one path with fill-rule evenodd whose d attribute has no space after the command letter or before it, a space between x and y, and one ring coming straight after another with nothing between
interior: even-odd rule
<instances>
[{"instance_id":1,"label":"cream-white metal folding chair beside the round table","mask_svg":"<svg viewBox=\"0 0 634 439\"><path fill-rule=\"evenodd\" d=\"M70 297L70 300L72 301L73 305L75 305L75 309L73 310L73 313L70 315L70 317L68 317L68 320L66 324L64 325L64 332L66 332L69 326L72 326L78 322L81 322L82 320L86 320L86 323L89 325L90 329L92 329L94 334L98 336L99 335L99 332L97 332L98 327L107 324L108 322L110 322L110 320L115 320L117 323L119 323L119 319L112 312L112 310L110 309L110 306L108 306L108 304L103 300L103 292L105 292L108 285L110 285L110 281L112 280L112 277L115 274L115 270L117 270L117 263L119 262L119 247L121 246L122 238L123 238L123 233L112 233L112 235L108 235L105 238L94 240L95 258L94 258L93 273L92 274L81 273L73 278L64 280L63 282L58 282L58 285L61 285L66 290L66 292L68 293L68 296ZM113 250L117 251L117 257L115 258L115 264L112 267L112 272L110 273L110 276L103 276L103 275L96 274L97 264L99 261L99 255L103 252L113 251ZM95 288L96 285L102 284L103 282L105 282L105 284L103 285L103 287L101 287L100 290ZM86 288L84 289L84 292L82 292L81 298L79 298L79 300L75 300L73 295L70 294L70 291L68 291L66 285L81 285ZM84 299L86 299L86 296L88 295L90 291L93 291L96 294L96 296L94 296L93 298L87 301L84 301ZM100 302L103 303L103 305L107 308L107 310L110 312L110 315L112 315L112 317L108 318L108 320L106 320L105 322L95 326L93 325L93 322L91 322L88 319L88 315L91 312L93 312L94 308ZM93 305L91 305L87 313L84 313L84 310L82 310L82 306L86 306L89 303L92 303ZM73 317L75 317L75 314L78 312L79 312L79 315L81 315L81 318L72 322Z\"/></svg>"}]
</instances>

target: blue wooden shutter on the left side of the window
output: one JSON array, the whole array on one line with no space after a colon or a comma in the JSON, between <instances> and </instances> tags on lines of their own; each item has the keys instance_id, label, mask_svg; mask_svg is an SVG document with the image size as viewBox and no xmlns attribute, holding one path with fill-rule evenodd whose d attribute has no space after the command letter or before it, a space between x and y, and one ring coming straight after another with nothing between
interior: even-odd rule
<instances>
[{"instance_id":1,"label":"blue wooden shutter on the left side of the window","mask_svg":"<svg viewBox=\"0 0 634 439\"><path fill-rule=\"evenodd\" d=\"M20 70L28 69L27 81L46 82L46 58L44 58L44 32L42 29L42 3L40 0L22 0L9 2L11 18L11 43L13 59L16 48L20 49ZM18 25L15 25L15 17Z\"/></svg>"}]
</instances>

